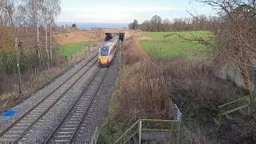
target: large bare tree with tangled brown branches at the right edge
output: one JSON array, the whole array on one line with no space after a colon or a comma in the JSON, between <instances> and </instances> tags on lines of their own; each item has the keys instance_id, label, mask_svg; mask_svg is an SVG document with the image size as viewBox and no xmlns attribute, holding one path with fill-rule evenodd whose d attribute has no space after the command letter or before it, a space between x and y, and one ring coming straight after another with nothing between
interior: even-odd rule
<instances>
[{"instance_id":1,"label":"large bare tree with tangled brown branches at the right edge","mask_svg":"<svg viewBox=\"0 0 256 144\"><path fill-rule=\"evenodd\" d=\"M221 18L211 26L218 38L221 54L240 68L245 80L245 89L250 92L250 110L256 110L251 80L256 65L256 2L255 0L199 0L212 6ZM202 18L198 18L202 21Z\"/></svg>"}]
</instances>

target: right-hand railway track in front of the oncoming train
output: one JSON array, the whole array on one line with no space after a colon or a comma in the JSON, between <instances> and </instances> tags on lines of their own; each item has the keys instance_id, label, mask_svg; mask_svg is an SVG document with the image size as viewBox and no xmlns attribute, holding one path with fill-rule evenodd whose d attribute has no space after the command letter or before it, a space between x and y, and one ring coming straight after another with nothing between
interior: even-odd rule
<instances>
[{"instance_id":1,"label":"right-hand railway track in front of the oncoming train","mask_svg":"<svg viewBox=\"0 0 256 144\"><path fill-rule=\"evenodd\" d=\"M99 87L102 85L108 68L98 68L97 72L90 79L90 82L79 95L74 105L70 107L66 115L55 127L54 131L47 138L45 143L74 143L75 136L82 126L83 119L90 109Z\"/></svg>"}]
</instances>

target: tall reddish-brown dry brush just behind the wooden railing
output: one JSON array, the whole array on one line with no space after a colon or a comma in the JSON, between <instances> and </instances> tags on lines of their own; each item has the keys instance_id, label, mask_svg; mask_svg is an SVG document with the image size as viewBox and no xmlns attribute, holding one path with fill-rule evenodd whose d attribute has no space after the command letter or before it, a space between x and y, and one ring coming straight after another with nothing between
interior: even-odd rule
<instances>
[{"instance_id":1,"label":"tall reddish-brown dry brush just behind the wooden railing","mask_svg":"<svg viewBox=\"0 0 256 144\"><path fill-rule=\"evenodd\" d=\"M126 119L170 119L171 105L163 66L145 60L123 69L121 85L114 97L115 115Z\"/></svg>"}]
</instances>

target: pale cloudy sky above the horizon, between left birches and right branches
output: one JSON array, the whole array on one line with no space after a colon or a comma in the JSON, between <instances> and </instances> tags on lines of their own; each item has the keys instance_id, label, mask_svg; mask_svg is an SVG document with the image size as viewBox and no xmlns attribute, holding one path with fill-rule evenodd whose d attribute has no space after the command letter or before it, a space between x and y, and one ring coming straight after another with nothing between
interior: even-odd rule
<instances>
[{"instance_id":1,"label":"pale cloudy sky above the horizon, between left birches and right branches","mask_svg":"<svg viewBox=\"0 0 256 144\"><path fill-rule=\"evenodd\" d=\"M139 23L159 15L163 19L214 15L210 6L193 0L62 0L57 22Z\"/></svg>"}]
</instances>

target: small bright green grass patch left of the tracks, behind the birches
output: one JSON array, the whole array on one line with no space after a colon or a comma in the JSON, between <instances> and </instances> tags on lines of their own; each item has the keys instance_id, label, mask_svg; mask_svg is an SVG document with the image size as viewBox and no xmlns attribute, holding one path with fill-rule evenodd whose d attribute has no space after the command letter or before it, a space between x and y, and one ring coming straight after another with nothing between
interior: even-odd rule
<instances>
[{"instance_id":1,"label":"small bright green grass patch left of the tracks, behind the birches","mask_svg":"<svg viewBox=\"0 0 256 144\"><path fill-rule=\"evenodd\" d=\"M59 46L58 54L62 57L75 55L88 48L88 43L77 42L77 43L67 43Z\"/></svg>"}]
</instances>

